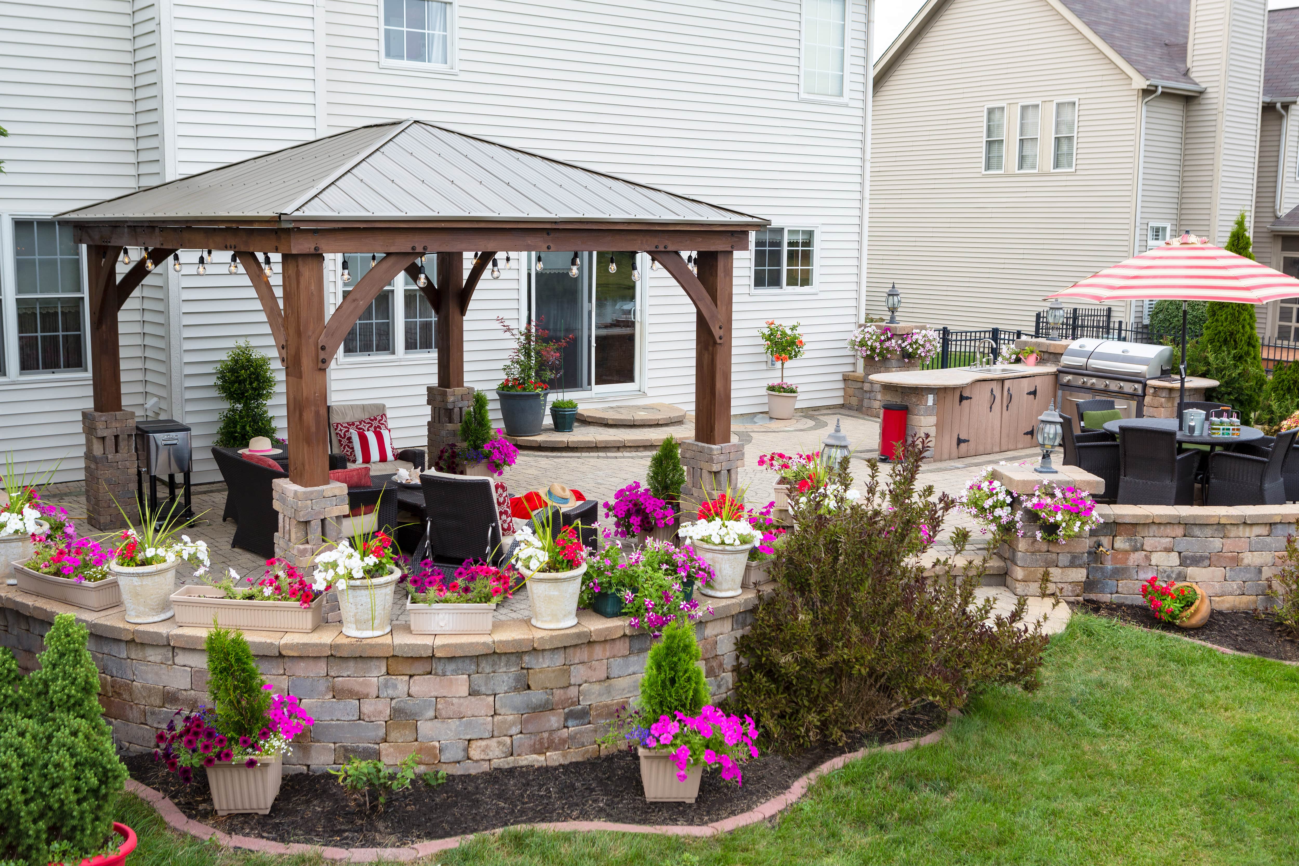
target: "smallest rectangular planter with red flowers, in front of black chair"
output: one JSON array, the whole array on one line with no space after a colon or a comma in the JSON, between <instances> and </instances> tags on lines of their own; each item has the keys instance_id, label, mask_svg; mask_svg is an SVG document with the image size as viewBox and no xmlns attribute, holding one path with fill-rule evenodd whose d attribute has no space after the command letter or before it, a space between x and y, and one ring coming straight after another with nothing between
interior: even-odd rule
<instances>
[{"instance_id":1,"label":"smallest rectangular planter with red flowers, in front of black chair","mask_svg":"<svg viewBox=\"0 0 1299 866\"><path fill-rule=\"evenodd\" d=\"M466 560L451 578L431 560L405 578L410 631L417 635L490 635L496 605L513 596L512 565Z\"/></svg>"}]
</instances>

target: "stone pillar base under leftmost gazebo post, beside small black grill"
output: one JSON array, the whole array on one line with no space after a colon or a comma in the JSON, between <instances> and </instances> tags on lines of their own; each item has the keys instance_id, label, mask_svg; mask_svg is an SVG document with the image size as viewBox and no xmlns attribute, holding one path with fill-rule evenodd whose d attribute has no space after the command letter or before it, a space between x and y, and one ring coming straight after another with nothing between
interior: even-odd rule
<instances>
[{"instance_id":1,"label":"stone pillar base under leftmost gazebo post, beside small black grill","mask_svg":"<svg viewBox=\"0 0 1299 866\"><path fill-rule=\"evenodd\" d=\"M122 512L139 519L135 502L135 413L82 412L86 434L86 517L96 530L126 526ZM118 510L121 506L121 510Z\"/></svg>"}]
</instances>

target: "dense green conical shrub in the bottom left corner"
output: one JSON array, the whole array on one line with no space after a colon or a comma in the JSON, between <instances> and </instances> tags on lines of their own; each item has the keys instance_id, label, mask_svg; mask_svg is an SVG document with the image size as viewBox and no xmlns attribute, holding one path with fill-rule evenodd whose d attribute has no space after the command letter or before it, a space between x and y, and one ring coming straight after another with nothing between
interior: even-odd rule
<instances>
[{"instance_id":1,"label":"dense green conical shrub in the bottom left corner","mask_svg":"<svg viewBox=\"0 0 1299 866\"><path fill-rule=\"evenodd\" d=\"M99 706L87 632L58 614L25 680L0 649L0 858L79 862L113 839L126 767Z\"/></svg>"}]
</instances>

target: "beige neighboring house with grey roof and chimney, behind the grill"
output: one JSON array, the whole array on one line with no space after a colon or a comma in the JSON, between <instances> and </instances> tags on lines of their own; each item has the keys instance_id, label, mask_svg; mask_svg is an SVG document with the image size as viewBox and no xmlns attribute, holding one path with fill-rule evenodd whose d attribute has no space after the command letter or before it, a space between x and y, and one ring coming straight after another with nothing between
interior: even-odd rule
<instances>
[{"instance_id":1,"label":"beige neighboring house with grey roof and chimney, behind the grill","mask_svg":"<svg viewBox=\"0 0 1299 866\"><path fill-rule=\"evenodd\" d=\"M908 321L1031 327L1047 295L1181 230L1222 244L1242 210L1259 261L1299 270L1278 249L1299 257L1296 12L926 3L874 65L868 310L896 282Z\"/></svg>"}]
</instances>

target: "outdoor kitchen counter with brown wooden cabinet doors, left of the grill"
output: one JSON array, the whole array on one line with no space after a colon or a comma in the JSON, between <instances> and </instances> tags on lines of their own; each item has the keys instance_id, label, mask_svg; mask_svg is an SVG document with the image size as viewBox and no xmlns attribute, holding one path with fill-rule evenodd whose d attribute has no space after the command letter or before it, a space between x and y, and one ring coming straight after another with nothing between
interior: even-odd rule
<instances>
[{"instance_id":1,"label":"outdoor kitchen counter with brown wooden cabinet doors, left of the grill","mask_svg":"<svg viewBox=\"0 0 1299 866\"><path fill-rule=\"evenodd\" d=\"M930 460L1028 448L1037 418L1056 395L1055 365L1016 365L1015 373L968 367L877 373L881 402L907 405L907 438L929 434Z\"/></svg>"}]
</instances>

